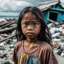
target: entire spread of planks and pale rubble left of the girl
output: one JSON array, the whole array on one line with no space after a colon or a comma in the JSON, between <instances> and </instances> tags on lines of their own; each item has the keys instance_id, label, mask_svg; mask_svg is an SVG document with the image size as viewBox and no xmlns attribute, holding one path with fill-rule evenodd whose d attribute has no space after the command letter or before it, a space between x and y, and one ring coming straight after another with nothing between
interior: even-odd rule
<instances>
[{"instance_id":1,"label":"entire spread of planks and pale rubble left of the girl","mask_svg":"<svg viewBox=\"0 0 64 64\"><path fill-rule=\"evenodd\" d=\"M17 41L16 26L17 19L15 18L0 21L0 64L13 64L10 59Z\"/></svg>"}]
</instances>

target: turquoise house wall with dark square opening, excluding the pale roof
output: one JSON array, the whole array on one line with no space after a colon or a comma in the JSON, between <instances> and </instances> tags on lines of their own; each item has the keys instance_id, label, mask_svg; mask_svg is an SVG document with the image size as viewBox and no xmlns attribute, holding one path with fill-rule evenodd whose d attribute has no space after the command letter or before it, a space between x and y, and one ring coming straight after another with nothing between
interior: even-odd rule
<instances>
[{"instance_id":1,"label":"turquoise house wall with dark square opening, excluding the pale roof","mask_svg":"<svg viewBox=\"0 0 64 64\"><path fill-rule=\"evenodd\" d=\"M42 10L44 14L45 21L48 22L49 19L61 22L64 20L64 8L60 3L50 6L46 10Z\"/></svg>"}]
</instances>

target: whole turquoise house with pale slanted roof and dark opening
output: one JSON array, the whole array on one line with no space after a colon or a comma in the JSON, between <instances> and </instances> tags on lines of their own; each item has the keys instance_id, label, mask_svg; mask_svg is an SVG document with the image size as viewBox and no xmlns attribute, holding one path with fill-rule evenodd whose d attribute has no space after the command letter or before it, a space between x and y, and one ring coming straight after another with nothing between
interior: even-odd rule
<instances>
[{"instance_id":1,"label":"whole turquoise house with pale slanted roof and dark opening","mask_svg":"<svg viewBox=\"0 0 64 64\"><path fill-rule=\"evenodd\" d=\"M38 8L42 10L46 22L48 22L49 19L58 22L64 20L64 6L60 0L42 3Z\"/></svg>"}]
</instances>

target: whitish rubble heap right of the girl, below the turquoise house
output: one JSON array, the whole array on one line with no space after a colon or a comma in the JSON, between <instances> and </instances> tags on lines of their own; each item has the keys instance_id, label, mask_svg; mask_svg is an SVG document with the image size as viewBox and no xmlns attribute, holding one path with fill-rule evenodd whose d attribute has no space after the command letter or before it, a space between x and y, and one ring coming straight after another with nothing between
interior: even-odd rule
<instances>
[{"instance_id":1,"label":"whitish rubble heap right of the girl, below the turquoise house","mask_svg":"<svg viewBox=\"0 0 64 64\"><path fill-rule=\"evenodd\" d=\"M58 55L64 56L64 22L49 20L47 24L52 35L52 45Z\"/></svg>"}]
</instances>

